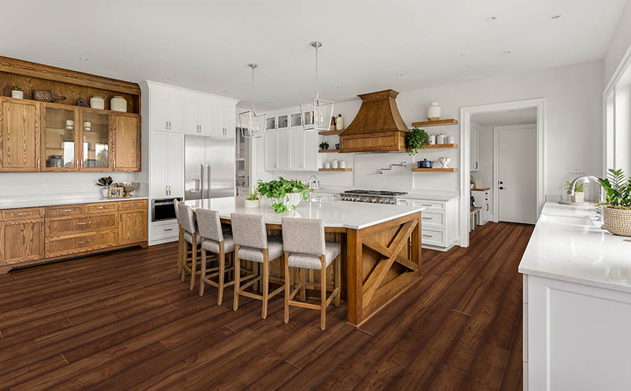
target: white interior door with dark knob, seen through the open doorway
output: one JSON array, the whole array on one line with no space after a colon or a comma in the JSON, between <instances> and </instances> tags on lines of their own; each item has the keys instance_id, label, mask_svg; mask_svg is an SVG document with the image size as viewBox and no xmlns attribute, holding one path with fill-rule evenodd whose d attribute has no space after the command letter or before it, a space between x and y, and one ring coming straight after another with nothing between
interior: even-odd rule
<instances>
[{"instance_id":1,"label":"white interior door with dark knob, seen through the open doorway","mask_svg":"<svg viewBox=\"0 0 631 391\"><path fill-rule=\"evenodd\" d=\"M536 127L498 129L497 151L499 220L536 223Z\"/></svg>"}]
</instances>

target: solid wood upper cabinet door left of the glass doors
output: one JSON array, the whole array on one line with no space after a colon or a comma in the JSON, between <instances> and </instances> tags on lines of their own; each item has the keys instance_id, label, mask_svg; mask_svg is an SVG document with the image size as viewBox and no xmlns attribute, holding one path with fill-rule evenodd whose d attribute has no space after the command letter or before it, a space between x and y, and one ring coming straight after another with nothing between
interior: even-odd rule
<instances>
[{"instance_id":1,"label":"solid wood upper cabinet door left of the glass doors","mask_svg":"<svg viewBox=\"0 0 631 391\"><path fill-rule=\"evenodd\" d=\"M37 102L0 98L0 171L40 170L39 112Z\"/></svg>"}]
</instances>

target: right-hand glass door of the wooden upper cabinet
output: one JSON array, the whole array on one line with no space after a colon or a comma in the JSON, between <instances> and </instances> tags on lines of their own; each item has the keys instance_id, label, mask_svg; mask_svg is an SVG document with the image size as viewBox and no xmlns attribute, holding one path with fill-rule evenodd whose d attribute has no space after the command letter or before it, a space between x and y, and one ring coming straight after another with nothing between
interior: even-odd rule
<instances>
[{"instance_id":1,"label":"right-hand glass door of the wooden upper cabinet","mask_svg":"<svg viewBox=\"0 0 631 391\"><path fill-rule=\"evenodd\" d=\"M82 112L82 164L84 171L109 170L109 114Z\"/></svg>"}]
</instances>

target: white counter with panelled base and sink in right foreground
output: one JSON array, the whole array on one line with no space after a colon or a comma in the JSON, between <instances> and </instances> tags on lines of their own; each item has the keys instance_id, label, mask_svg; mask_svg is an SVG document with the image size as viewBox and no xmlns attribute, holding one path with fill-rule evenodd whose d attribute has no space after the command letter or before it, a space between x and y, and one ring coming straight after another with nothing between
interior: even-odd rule
<instances>
[{"instance_id":1,"label":"white counter with panelled base and sink in right foreground","mask_svg":"<svg viewBox=\"0 0 631 391\"><path fill-rule=\"evenodd\" d=\"M546 203L524 274L524 390L629 390L631 241Z\"/></svg>"}]
</instances>

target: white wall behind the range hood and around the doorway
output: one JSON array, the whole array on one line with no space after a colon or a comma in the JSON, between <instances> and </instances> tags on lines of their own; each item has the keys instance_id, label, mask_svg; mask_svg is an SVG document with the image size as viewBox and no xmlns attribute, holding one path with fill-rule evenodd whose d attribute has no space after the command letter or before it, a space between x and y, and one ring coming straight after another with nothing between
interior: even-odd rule
<instances>
[{"instance_id":1,"label":"white wall behind the range hood and around the doorway","mask_svg":"<svg viewBox=\"0 0 631 391\"><path fill-rule=\"evenodd\" d=\"M371 91L357 91L365 93ZM602 94L603 61L592 61L531 73L490 77L456 85L401 92L397 105L406 124L422 121L426 117L426 105L440 102L443 118L459 118L460 108L514 100L545 97L545 191L558 193L564 174L574 168L600 175L602 172ZM359 98L351 102L336 103L334 114L341 113L345 124L350 124L361 105ZM296 107L279 110L293 112ZM459 141L457 125L426 129L429 133L443 132ZM262 145L262 141L257 141ZM257 173L263 170L262 146L255 162ZM343 154L340 156L348 156ZM351 173L318 173L322 186L355 186L388 188L401 191L458 190L458 174L411 173L397 170L378 176L380 166L400 161L438 159L451 157L451 165L459 166L457 150L421 151L416 158L405 152L390 154L356 154ZM278 175L279 173L274 173ZM281 173L282 175L282 173ZM311 175L305 175L306 178ZM302 177L286 173L287 177ZM350 178L352 177L352 178Z\"/></svg>"}]
</instances>

